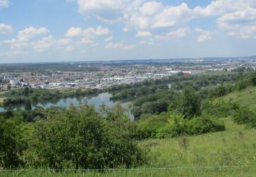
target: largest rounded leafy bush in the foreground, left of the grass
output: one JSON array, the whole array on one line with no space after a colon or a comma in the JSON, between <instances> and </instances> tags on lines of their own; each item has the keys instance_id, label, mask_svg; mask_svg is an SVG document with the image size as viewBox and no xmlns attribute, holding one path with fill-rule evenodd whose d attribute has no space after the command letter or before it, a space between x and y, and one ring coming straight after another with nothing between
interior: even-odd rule
<instances>
[{"instance_id":1,"label":"largest rounded leafy bush in the foreground, left of the grass","mask_svg":"<svg viewBox=\"0 0 256 177\"><path fill-rule=\"evenodd\" d=\"M132 167L143 161L143 155L121 125L85 105L38 121L34 148L42 163L55 169Z\"/></svg>"}]
</instances>

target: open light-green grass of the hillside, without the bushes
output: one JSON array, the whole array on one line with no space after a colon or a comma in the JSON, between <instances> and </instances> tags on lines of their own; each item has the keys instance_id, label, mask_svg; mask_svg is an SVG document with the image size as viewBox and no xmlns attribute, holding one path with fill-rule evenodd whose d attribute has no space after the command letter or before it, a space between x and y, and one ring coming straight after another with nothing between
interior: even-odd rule
<instances>
[{"instance_id":1,"label":"open light-green grass of the hillside, without the bushes","mask_svg":"<svg viewBox=\"0 0 256 177\"><path fill-rule=\"evenodd\" d=\"M250 94L249 94L250 93ZM255 108L256 87L240 93L231 93L222 99L236 101ZM256 130L236 125L232 118L222 118L227 131L186 137L188 146L181 145L184 138L145 140L140 142L147 149L149 163L144 170L115 171L102 174L66 173L70 176L255 176ZM170 169L148 169L167 167ZM174 167L174 168L173 168ZM192 167L192 168L181 168ZM3 176L63 176L65 173L14 172ZM0 173L1 176L1 173Z\"/></svg>"}]
</instances>

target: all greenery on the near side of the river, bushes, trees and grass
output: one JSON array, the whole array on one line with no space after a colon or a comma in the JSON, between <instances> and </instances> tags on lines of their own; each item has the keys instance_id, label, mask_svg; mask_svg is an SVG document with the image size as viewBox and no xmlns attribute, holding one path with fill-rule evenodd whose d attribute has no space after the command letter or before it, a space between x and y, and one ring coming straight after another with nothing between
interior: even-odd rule
<instances>
[{"instance_id":1,"label":"all greenery on the near side of the river, bushes, trees and grass","mask_svg":"<svg viewBox=\"0 0 256 177\"><path fill-rule=\"evenodd\" d=\"M227 76L226 81L225 76L218 77L223 80L219 86L214 86L219 84L216 80L214 84L202 86L204 81L186 77L202 78L180 76L177 80L184 82L174 82L171 89L158 87L158 91L138 97L132 106L137 118L134 122L128 120L126 110L119 103L111 109L102 105L96 110L85 103L77 108L70 105L68 109L28 108L1 113L1 169L54 171L0 173L4 176L82 176L84 173L89 176L253 176L256 172L255 72ZM122 170L57 171L109 168ZM125 170L130 168L135 170Z\"/></svg>"}]
</instances>

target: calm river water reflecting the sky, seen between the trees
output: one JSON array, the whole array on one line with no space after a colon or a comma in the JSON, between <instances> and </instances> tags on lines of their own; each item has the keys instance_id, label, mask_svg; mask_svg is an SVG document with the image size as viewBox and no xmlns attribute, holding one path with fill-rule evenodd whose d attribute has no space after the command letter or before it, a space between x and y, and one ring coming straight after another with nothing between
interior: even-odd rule
<instances>
[{"instance_id":1,"label":"calm river water reflecting the sky, seen between the trees","mask_svg":"<svg viewBox=\"0 0 256 177\"><path fill-rule=\"evenodd\" d=\"M73 103L74 106L79 106L79 104L87 103L94 104L95 108L98 109L102 103L104 103L106 106L109 106L109 108L112 108L115 105L114 101L111 101L111 93L100 93L99 95L94 96L85 96L85 97L74 97L74 98L65 98L65 99L58 99L54 101L44 101L40 103L36 103L32 105L32 109L35 108L35 106L41 106L42 108L50 108L51 106L59 106L64 108L69 108L70 103ZM120 101L122 106L124 108L128 108L130 101L122 100ZM6 110L17 110L17 109L24 109L23 104L10 106L6 108L0 108L0 112L4 112ZM130 112L128 112L128 115L130 116L131 120L134 120L134 117Z\"/></svg>"}]
</instances>

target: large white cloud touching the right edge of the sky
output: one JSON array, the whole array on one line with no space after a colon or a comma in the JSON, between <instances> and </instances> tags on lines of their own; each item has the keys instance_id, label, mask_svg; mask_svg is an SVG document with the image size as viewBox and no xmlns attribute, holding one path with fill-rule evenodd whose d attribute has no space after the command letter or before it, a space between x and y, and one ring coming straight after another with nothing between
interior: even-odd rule
<instances>
[{"instance_id":1,"label":"large white cloud touching the right edge of the sky","mask_svg":"<svg viewBox=\"0 0 256 177\"><path fill-rule=\"evenodd\" d=\"M256 8L224 14L218 18L218 27L227 31L229 36L256 37Z\"/></svg>"}]
</instances>

